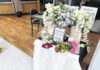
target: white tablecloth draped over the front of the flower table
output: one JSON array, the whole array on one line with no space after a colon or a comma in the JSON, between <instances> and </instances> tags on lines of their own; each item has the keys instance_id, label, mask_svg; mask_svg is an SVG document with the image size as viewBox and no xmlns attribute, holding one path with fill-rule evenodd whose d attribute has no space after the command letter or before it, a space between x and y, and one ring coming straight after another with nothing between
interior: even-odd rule
<instances>
[{"instance_id":1,"label":"white tablecloth draped over the front of the flower table","mask_svg":"<svg viewBox=\"0 0 100 70\"><path fill-rule=\"evenodd\" d=\"M55 47L55 46L54 46ZM34 70L81 70L79 55L55 52L55 49L42 48L42 41L34 42Z\"/></svg>"}]
</instances>

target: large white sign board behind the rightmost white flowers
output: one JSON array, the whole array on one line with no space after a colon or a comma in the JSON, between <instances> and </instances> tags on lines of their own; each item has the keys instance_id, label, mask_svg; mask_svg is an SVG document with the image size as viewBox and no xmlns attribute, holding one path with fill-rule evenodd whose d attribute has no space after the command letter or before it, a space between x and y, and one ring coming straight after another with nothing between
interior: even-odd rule
<instances>
[{"instance_id":1,"label":"large white sign board behind the rightmost white flowers","mask_svg":"<svg viewBox=\"0 0 100 70\"><path fill-rule=\"evenodd\" d=\"M89 17L92 18L92 20L91 20L91 28L92 28L94 21L95 21L95 17L96 17L98 8L82 6L81 10L83 10L85 13L87 13L89 15Z\"/></svg>"}]
</instances>

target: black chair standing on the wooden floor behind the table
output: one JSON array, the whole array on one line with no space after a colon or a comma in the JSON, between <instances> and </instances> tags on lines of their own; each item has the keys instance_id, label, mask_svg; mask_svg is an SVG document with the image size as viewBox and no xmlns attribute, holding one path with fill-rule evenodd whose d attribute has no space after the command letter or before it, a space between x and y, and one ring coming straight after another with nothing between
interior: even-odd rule
<instances>
[{"instance_id":1,"label":"black chair standing on the wooden floor behind the table","mask_svg":"<svg viewBox=\"0 0 100 70\"><path fill-rule=\"evenodd\" d=\"M38 19L38 18L35 18L35 15L38 14L37 10L36 9L31 9L30 10L30 19L31 19L31 34L33 36L33 24L37 24L37 29L38 29L38 32L39 32L39 25L41 24L41 20ZM34 20L34 21L33 21Z\"/></svg>"}]
</instances>

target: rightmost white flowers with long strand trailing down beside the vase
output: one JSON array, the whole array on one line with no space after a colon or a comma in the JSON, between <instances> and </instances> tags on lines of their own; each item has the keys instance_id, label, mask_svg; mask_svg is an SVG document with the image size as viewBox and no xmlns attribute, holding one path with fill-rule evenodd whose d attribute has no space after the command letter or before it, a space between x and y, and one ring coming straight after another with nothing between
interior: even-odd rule
<instances>
[{"instance_id":1,"label":"rightmost white flowers with long strand trailing down beside the vase","mask_svg":"<svg viewBox=\"0 0 100 70\"><path fill-rule=\"evenodd\" d=\"M84 28L83 40L88 41L87 34L89 33L89 29L91 28L91 18L88 17L88 15L82 10L78 10L75 15L75 24L78 29Z\"/></svg>"}]
</instances>

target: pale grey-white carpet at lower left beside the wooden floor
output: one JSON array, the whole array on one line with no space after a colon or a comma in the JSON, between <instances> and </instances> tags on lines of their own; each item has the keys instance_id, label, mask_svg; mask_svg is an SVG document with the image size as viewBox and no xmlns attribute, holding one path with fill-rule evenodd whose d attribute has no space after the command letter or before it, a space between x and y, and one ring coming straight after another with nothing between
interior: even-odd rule
<instances>
[{"instance_id":1,"label":"pale grey-white carpet at lower left beside the wooden floor","mask_svg":"<svg viewBox=\"0 0 100 70\"><path fill-rule=\"evenodd\" d=\"M0 70L33 70L32 57L0 38Z\"/></svg>"}]
</instances>

